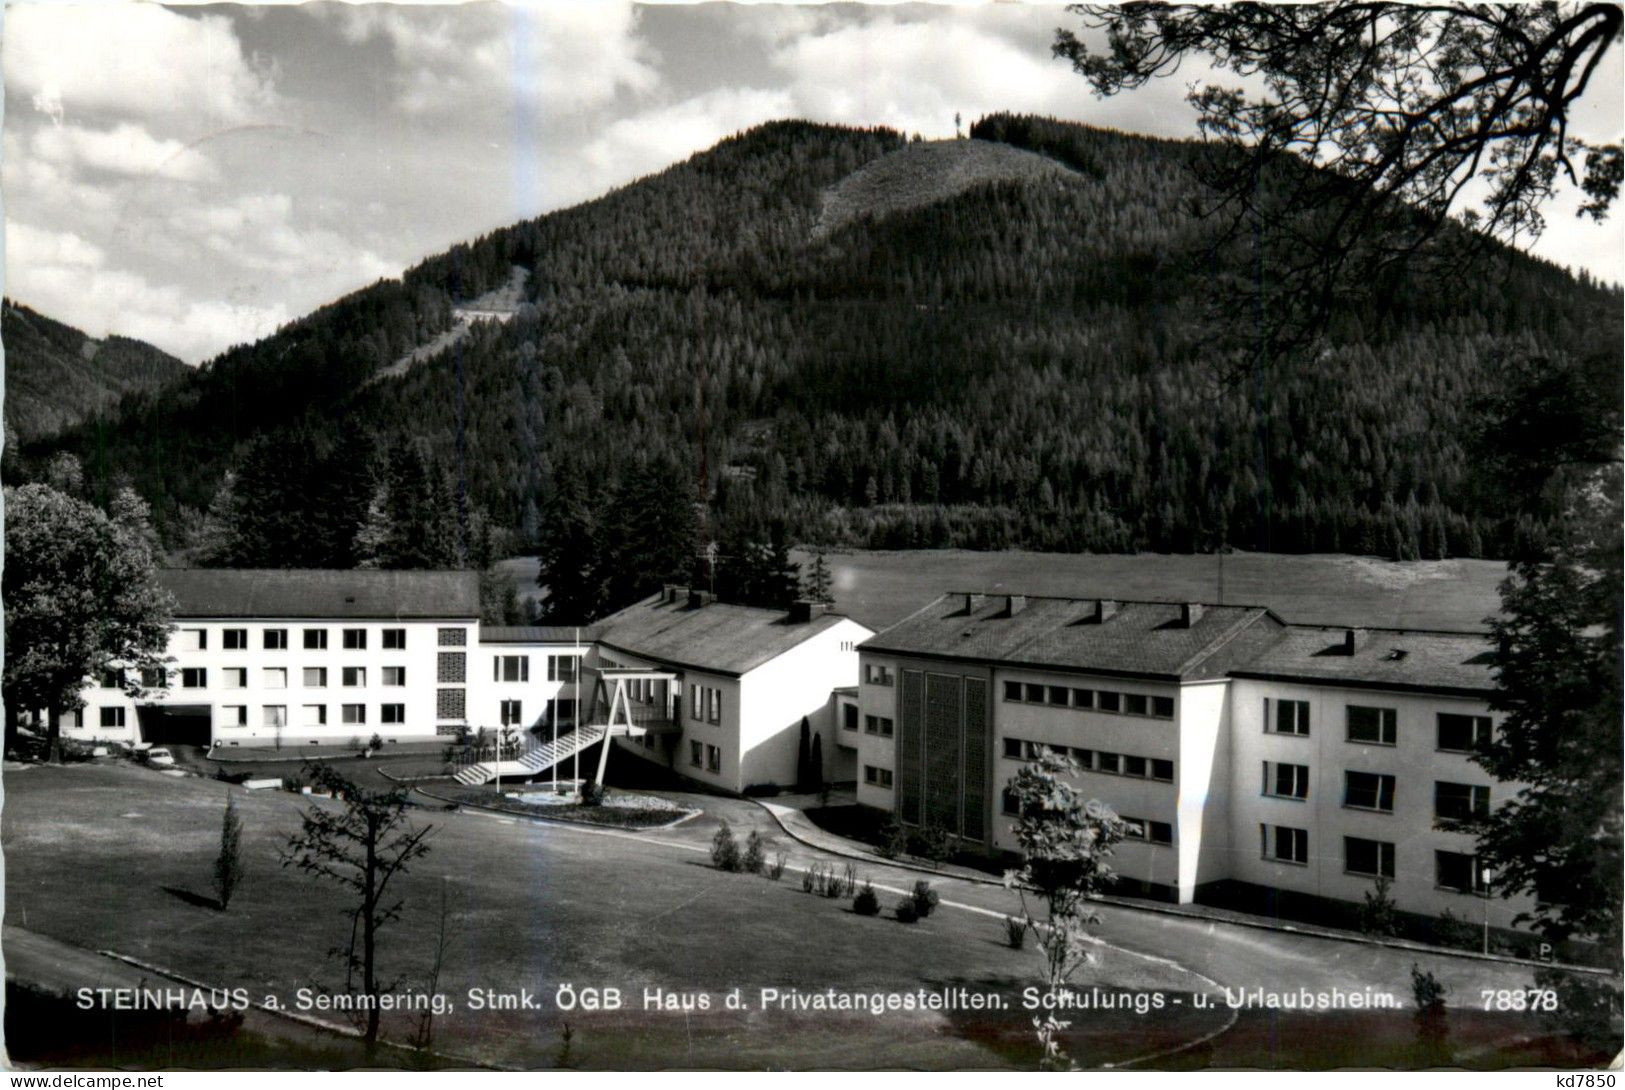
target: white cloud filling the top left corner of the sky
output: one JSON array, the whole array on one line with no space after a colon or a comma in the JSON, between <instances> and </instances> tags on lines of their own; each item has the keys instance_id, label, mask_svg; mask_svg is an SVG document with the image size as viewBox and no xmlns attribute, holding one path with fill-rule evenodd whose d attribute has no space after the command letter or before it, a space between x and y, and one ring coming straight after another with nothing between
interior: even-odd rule
<instances>
[{"instance_id":1,"label":"white cloud filling the top left corner of the sky","mask_svg":"<svg viewBox=\"0 0 1625 1090\"><path fill-rule=\"evenodd\" d=\"M0 60L6 86L54 120L89 112L219 127L275 101L271 73L244 55L228 18L156 3L10 5Z\"/></svg>"}]
</instances>

